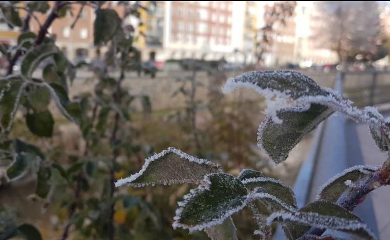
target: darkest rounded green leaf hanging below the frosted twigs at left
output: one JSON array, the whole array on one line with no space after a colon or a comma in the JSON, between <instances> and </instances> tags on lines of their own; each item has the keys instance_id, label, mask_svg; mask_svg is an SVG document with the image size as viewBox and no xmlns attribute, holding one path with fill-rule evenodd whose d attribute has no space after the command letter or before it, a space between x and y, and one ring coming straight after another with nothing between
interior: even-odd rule
<instances>
[{"instance_id":1,"label":"darkest rounded green leaf hanging below the frosted twigs at left","mask_svg":"<svg viewBox=\"0 0 390 240\"><path fill-rule=\"evenodd\" d=\"M26 115L28 129L39 137L53 136L54 119L49 110Z\"/></svg>"}]
</instances>

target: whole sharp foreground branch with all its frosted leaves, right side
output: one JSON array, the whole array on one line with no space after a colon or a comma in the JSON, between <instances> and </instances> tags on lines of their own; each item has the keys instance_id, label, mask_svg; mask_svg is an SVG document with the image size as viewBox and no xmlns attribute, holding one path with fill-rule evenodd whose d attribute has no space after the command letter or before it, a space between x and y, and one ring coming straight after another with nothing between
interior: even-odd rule
<instances>
[{"instance_id":1,"label":"whole sharp foreground branch with all its frosted leaves, right side","mask_svg":"<svg viewBox=\"0 0 390 240\"><path fill-rule=\"evenodd\" d=\"M250 88L266 97L266 117L259 125L257 145L275 163L282 163L308 132L339 111L357 123L368 123L381 151L390 146L390 121L379 112L353 103L332 89L322 88L294 71L253 71L229 79L225 93ZM232 214L248 207L257 221L255 235L271 238L271 224L279 222L289 240L340 240L321 236L326 229L376 239L352 210L374 189L390 184L390 158L382 166L353 166L326 182L316 201L298 209L292 189L261 172L244 169L238 176L224 173L206 159L168 148L145 160L141 170L115 186L199 186L178 202L172 226L205 231L213 240L237 240ZM265 220L264 220L265 219Z\"/></svg>"}]
</instances>

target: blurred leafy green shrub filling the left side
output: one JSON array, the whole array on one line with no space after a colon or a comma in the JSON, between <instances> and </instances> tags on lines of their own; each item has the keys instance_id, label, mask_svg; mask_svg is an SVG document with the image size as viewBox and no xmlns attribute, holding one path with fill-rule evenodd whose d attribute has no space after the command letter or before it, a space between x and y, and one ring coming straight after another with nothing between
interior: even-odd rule
<instances>
[{"instance_id":1,"label":"blurred leafy green shrub filling the left side","mask_svg":"<svg viewBox=\"0 0 390 240\"><path fill-rule=\"evenodd\" d=\"M123 9L122 16L112 9L110 2L0 3L2 19L10 27L21 29L16 46L0 44L10 63L7 74L0 77L0 163L7 169L1 184L11 185L25 177L35 176L37 186L32 197L44 201L47 207L55 196L60 208L67 212L61 240L66 240L73 228L76 231L72 232L84 238L128 238L132 233L122 224L123 216L130 207L137 206L148 211L145 218L153 214L143 200L116 193L114 182L116 176L123 173L120 172L123 164L117 161L118 157L137 155L144 149L141 143L134 143L135 136L129 122L134 100L141 98L143 102L148 102L147 96L133 96L122 86L126 68L137 61L137 51L133 47L134 26L126 25L124 19L131 15L139 16L140 11L148 11L148 7L155 3L118 4ZM72 15L75 6L78 13ZM71 99L68 86L72 84L79 66L66 58L56 46L55 36L48 34L48 30L54 21L68 13L74 16L73 28L87 7L96 14L94 46L97 53L100 47L108 49L100 65L104 65L104 69L110 65L118 71L96 71L98 81L93 91ZM40 27L34 33L29 26L30 21L38 21L37 12L48 15L43 24L38 22ZM19 59L20 73L14 73ZM39 68L40 65L43 69ZM41 74L34 75L38 72ZM18 113L37 138L52 137L56 121L49 109L50 102L55 103L66 119L78 125L86 144L85 152L81 156L71 156L68 164L44 154L31 143L12 138ZM102 143L108 143L108 151L102 151ZM91 190L94 192L89 192ZM115 205L118 201L123 202L120 208ZM128 202L131 206L126 205ZM16 225L13 220L1 207L0 239L14 236L41 239L41 234L33 225ZM85 220L91 223L84 226Z\"/></svg>"}]
</instances>

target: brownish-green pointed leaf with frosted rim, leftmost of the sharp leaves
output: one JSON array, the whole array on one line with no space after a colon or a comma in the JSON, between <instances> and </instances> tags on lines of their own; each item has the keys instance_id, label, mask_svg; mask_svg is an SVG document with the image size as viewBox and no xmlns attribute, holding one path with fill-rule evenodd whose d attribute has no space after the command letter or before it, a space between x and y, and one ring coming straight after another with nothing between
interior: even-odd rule
<instances>
[{"instance_id":1,"label":"brownish-green pointed leaf with frosted rim, leftmost of the sharp leaves","mask_svg":"<svg viewBox=\"0 0 390 240\"><path fill-rule=\"evenodd\" d=\"M119 179L115 186L143 187L155 184L199 183L205 175L221 172L221 166L195 158L173 147L145 160L138 173Z\"/></svg>"}]
</instances>

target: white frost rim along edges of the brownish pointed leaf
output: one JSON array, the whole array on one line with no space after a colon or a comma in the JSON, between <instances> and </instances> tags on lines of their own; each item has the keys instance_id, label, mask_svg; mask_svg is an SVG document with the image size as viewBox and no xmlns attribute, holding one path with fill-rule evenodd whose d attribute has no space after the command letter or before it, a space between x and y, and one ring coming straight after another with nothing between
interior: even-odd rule
<instances>
[{"instance_id":1,"label":"white frost rim along edges of the brownish pointed leaf","mask_svg":"<svg viewBox=\"0 0 390 240\"><path fill-rule=\"evenodd\" d=\"M138 179L138 177L142 176L142 174L145 172L145 170L147 169L147 167L149 166L150 163L152 163L153 161L158 161L158 159L160 159L161 157L163 157L166 154L171 153L171 152L179 155L181 158L186 159L186 160L188 160L190 162L197 163L197 164L200 164L200 165L204 164L204 165L214 166L214 167L219 168L220 171L222 171L221 166L219 164L213 163L213 162L211 162L209 160L206 160L206 159L195 158L194 156L186 154L185 152L182 152L179 149L176 149L174 147L168 147L168 149L163 150L162 152L160 152L158 154L154 154L153 156L145 159L145 163L144 163L144 165L142 166L142 168L141 168L141 170L139 172L137 172L137 173L135 173L135 174L133 174L133 175L131 175L129 177L126 177L124 179L117 180L115 182L115 187L119 187L119 186L122 186L122 185L125 185L125 184L130 184L134 180ZM188 181L185 180L185 179L184 180L180 180L180 181L171 180L171 181L167 181L167 184L178 184L178 183L185 183L185 182L188 182ZM211 184L211 182L209 182L209 183ZM138 186L142 187L142 186L146 186L147 184L131 184L131 185L135 186L135 187L138 187Z\"/></svg>"}]
</instances>

